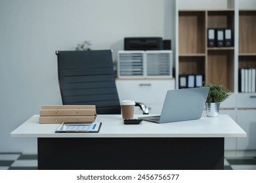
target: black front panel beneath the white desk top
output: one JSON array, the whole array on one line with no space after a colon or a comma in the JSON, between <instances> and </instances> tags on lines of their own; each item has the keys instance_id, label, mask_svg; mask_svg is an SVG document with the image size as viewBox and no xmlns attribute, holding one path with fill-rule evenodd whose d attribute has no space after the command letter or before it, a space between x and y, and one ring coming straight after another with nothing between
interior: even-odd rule
<instances>
[{"instance_id":1,"label":"black front panel beneath the white desk top","mask_svg":"<svg viewBox=\"0 0 256 183\"><path fill-rule=\"evenodd\" d=\"M224 168L224 138L38 138L38 169Z\"/></svg>"}]
</instances>

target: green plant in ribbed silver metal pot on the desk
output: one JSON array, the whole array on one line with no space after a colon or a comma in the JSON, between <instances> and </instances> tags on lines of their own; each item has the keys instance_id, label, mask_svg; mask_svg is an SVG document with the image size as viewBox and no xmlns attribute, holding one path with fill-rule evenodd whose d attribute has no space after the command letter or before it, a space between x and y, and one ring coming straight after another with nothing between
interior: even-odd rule
<instances>
[{"instance_id":1,"label":"green plant in ribbed silver metal pot on the desk","mask_svg":"<svg viewBox=\"0 0 256 183\"><path fill-rule=\"evenodd\" d=\"M206 99L206 114L209 117L219 116L221 102L230 96L230 90L224 88L223 84L210 84L203 82L202 87L209 87L209 93Z\"/></svg>"}]
</instances>

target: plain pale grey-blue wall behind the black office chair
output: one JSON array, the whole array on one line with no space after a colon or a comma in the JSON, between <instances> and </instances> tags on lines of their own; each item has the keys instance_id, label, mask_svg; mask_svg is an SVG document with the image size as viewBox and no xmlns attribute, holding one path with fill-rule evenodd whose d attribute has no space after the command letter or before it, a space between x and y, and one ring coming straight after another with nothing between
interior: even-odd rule
<instances>
[{"instance_id":1,"label":"plain pale grey-blue wall behind the black office chair","mask_svg":"<svg viewBox=\"0 0 256 183\"><path fill-rule=\"evenodd\" d=\"M174 1L0 0L0 152L36 153L36 139L10 133L39 114L41 105L61 104L56 50L123 50L124 37L173 39ZM166 7L169 6L169 7ZM170 16L170 17L169 17Z\"/></svg>"}]
</instances>

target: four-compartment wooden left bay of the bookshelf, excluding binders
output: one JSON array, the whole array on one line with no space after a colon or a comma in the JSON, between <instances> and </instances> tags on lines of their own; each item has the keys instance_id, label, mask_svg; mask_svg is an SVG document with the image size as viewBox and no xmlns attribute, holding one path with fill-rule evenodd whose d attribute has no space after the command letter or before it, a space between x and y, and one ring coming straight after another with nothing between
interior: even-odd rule
<instances>
[{"instance_id":1,"label":"four-compartment wooden left bay of the bookshelf, excluding binders","mask_svg":"<svg viewBox=\"0 0 256 183\"><path fill-rule=\"evenodd\" d=\"M234 46L208 48L208 28L232 29L234 39L234 9L179 10L179 75L205 75L234 92Z\"/></svg>"}]
</instances>

